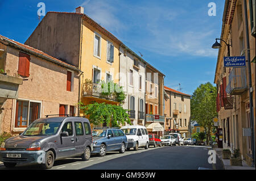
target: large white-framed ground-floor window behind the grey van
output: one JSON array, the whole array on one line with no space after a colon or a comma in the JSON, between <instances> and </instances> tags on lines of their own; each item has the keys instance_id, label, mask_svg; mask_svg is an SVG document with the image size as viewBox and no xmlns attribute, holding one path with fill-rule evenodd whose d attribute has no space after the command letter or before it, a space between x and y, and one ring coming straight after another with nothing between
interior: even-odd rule
<instances>
[{"instance_id":1,"label":"large white-framed ground-floor window behind the grey van","mask_svg":"<svg viewBox=\"0 0 256 181\"><path fill-rule=\"evenodd\" d=\"M40 118L41 103L17 100L15 112L15 127L27 127Z\"/></svg>"}]
</instances>

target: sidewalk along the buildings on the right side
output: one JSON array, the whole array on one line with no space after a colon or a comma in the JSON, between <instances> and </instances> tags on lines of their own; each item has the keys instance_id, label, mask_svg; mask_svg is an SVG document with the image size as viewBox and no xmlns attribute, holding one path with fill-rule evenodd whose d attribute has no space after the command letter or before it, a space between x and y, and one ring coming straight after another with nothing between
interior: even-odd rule
<instances>
[{"instance_id":1,"label":"sidewalk along the buildings on the right side","mask_svg":"<svg viewBox=\"0 0 256 181\"><path fill-rule=\"evenodd\" d=\"M242 161L242 166L231 166L229 159L222 159L222 148L214 148L218 158L220 158L225 170L255 170L254 167L250 167L245 161Z\"/></svg>"}]
</instances>

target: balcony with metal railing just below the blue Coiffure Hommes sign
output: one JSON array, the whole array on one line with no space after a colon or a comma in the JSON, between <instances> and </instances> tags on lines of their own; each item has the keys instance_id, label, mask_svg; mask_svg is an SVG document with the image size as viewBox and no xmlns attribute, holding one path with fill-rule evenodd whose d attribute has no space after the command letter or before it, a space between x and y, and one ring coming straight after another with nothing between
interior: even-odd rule
<instances>
[{"instance_id":1,"label":"balcony with metal railing just below the blue Coiffure Hommes sign","mask_svg":"<svg viewBox=\"0 0 256 181\"><path fill-rule=\"evenodd\" d=\"M241 95L245 90L247 90L245 67L233 68L229 74L229 83L226 86L226 92L230 95Z\"/></svg>"}]
</instances>

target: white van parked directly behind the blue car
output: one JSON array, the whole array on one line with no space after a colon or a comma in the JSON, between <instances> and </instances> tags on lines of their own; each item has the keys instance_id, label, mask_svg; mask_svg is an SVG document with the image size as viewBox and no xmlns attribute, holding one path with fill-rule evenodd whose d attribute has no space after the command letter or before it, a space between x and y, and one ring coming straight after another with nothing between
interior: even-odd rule
<instances>
[{"instance_id":1,"label":"white van parked directly behind the blue car","mask_svg":"<svg viewBox=\"0 0 256 181\"><path fill-rule=\"evenodd\" d=\"M149 138L146 127L142 125L126 125L121 130L127 137L127 150L130 150L130 148L138 150L139 147L148 149Z\"/></svg>"}]
</instances>

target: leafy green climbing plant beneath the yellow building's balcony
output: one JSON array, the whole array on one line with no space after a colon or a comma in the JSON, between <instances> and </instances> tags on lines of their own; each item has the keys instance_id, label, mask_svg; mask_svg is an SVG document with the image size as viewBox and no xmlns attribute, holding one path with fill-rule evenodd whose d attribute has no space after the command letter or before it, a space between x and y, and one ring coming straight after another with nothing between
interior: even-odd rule
<instances>
[{"instance_id":1,"label":"leafy green climbing plant beneath the yellow building's balcony","mask_svg":"<svg viewBox=\"0 0 256 181\"><path fill-rule=\"evenodd\" d=\"M121 106L97 102L88 105L80 103L80 109L88 116L90 123L94 125L103 124L105 126L120 127L125 122L131 124L127 110Z\"/></svg>"}]
</instances>

